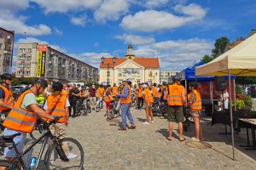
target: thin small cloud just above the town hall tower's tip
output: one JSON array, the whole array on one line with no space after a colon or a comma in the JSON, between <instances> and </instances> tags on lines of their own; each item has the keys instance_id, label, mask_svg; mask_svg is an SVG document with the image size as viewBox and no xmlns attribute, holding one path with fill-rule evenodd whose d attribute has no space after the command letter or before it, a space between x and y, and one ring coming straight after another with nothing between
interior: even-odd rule
<instances>
[{"instance_id":1,"label":"thin small cloud just above the town hall tower's tip","mask_svg":"<svg viewBox=\"0 0 256 170\"><path fill-rule=\"evenodd\" d=\"M143 37L131 34L123 34L122 36L116 36L115 38L123 40L126 44L131 43L134 45L143 45L154 42L154 37Z\"/></svg>"}]
</instances>

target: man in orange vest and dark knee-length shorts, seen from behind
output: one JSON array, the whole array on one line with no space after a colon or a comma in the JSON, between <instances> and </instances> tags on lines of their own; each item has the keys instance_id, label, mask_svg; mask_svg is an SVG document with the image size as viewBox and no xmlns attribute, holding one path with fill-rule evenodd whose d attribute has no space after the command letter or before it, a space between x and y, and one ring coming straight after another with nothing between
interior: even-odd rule
<instances>
[{"instance_id":1,"label":"man in orange vest and dark knee-length shorts, seen from behind","mask_svg":"<svg viewBox=\"0 0 256 170\"><path fill-rule=\"evenodd\" d=\"M183 88L180 87L180 85L177 84L178 80L177 78L172 78L172 85L169 85L168 88L166 88L166 93L164 96L164 99L167 100L168 104L168 117L167 120L169 122L169 136L166 136L166 139L172 140L172 127L173 122L178 123L178 131L179 131L179 141L184 141L183 138L183 122L184 122L184 116L183 116L183 105L185 102L185 95Z\"/></svg>"}]
</instances>

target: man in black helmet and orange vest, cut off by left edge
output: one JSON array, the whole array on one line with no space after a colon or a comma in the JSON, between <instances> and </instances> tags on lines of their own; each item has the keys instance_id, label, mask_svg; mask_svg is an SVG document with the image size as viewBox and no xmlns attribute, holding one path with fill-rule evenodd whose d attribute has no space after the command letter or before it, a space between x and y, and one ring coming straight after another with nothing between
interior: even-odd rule
<instances>
[{"instance_id":1,"label":"man in black helmet and orange vest, cut off by left edge","mask_svg":"<svg viewBox=\"0 0 256 170\"><path fill-rule=\"evenodd\" d=\"M12 75L4 73L1 76L3 83L0 85L0 111L4 118L8 115L11 108L15 105L15 99L9 86L12 83Z\"/></svg>"}]
</instances>

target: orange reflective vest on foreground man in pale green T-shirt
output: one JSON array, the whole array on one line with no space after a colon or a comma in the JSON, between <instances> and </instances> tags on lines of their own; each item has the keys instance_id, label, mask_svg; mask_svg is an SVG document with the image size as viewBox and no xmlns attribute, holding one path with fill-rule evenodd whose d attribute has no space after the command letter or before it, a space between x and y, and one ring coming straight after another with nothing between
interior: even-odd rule
<instances>
[{"instance_id":1,"label":"orange reflective vest on foreground man in pale green T-shirt","mask_svg":"<svg viewBox=\"0 0 256 170\"><path fill-rule=\"evenodd\" d=\"M4 127L9 127L24 133L32 132L35 123L37 122L37 114L32 111L26 111L20 107L25 95L30 93L32 93L31 90L26 90L26 92L20 94L14 107L3 122Z\"/></svg>"}]
</instances>

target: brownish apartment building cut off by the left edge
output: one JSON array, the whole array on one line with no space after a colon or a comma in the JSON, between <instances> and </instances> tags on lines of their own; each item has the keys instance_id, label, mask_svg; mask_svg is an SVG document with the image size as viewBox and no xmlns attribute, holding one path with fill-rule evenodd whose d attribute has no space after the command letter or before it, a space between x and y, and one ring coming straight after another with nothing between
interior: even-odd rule
<instances>
[{"instance_id":1,"label":"brownish apartment building cut off by the left edge","mask_svg":"<svg viewBox=\"0 0 256 170\"><path fill-rule=\"evenodd\" d=\"M0 75L12 71L14 37L14 31L7 31L0 27Z\"/></svg>"}]
</instances>

